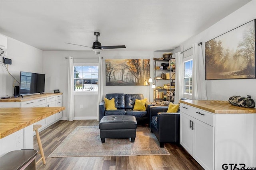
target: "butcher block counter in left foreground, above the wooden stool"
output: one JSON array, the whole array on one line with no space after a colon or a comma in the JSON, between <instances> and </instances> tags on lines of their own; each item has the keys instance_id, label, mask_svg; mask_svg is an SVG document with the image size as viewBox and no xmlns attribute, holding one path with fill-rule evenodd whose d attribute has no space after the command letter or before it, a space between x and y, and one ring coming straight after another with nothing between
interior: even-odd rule
<instances>
[{"instance_id":1,"label":"butcher block counter in left foreground, above the wooden stool","mask_svg":"<svg viewBox=\"0 0 256 170\"><path fill-rule=\"evenodd\" d=\"M0 139L64 109L65 107L0 108Z\"/></svg>"}]
</instances>

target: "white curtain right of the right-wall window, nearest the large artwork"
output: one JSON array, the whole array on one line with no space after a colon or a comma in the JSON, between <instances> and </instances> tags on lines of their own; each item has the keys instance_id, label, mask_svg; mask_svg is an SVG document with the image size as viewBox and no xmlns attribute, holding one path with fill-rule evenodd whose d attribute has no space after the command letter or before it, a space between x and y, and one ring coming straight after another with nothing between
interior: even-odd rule
<instances>
[{"instance_id":1,"label":"white curtain right of the right-wall window, nearest the large artwork","mask_svg":"<svg viewBox=\"0 0 256 170\"><path fill-rule=\"evenodd\" d=\"M192 70L192 98L193 100L207 100L205 66L202 45L193 44L193 70Z\"/></svg>"}]
</instances>

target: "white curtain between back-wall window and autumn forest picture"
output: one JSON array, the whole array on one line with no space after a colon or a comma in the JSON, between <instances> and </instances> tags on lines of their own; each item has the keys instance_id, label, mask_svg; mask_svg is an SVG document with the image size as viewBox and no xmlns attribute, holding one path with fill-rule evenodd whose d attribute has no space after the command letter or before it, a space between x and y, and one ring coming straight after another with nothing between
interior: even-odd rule
<instances>
[{"instance_id":1,"label":"white curtain between back-wall window and autumn forest picture","mask_svg":"<svg viewBox=\"0 0 256 170\"><path fill-rule=\"evenodd\" d=\"M100 120L100 102L103 100L103 67L102 58L99 57L99 75L98 75L98 106L97 106L97 119Z\"/></svg>"}]
</instances>

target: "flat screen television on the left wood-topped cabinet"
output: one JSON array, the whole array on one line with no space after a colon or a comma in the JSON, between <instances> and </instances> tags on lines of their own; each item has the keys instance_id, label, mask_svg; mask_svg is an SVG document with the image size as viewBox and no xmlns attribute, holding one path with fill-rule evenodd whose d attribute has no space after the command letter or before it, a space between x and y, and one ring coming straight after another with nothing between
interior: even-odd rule
<instances>
[{"instance_id":1,"label":"flat screen television on the left wood-topped cabinet","mask_svg":"<svg viewBox=\"0 0 256 170\"><path fill-rule=\"evenodd\" d=\"M20 72L20 95L44 92L45 74Z\"/></svg>"}]
</instances>

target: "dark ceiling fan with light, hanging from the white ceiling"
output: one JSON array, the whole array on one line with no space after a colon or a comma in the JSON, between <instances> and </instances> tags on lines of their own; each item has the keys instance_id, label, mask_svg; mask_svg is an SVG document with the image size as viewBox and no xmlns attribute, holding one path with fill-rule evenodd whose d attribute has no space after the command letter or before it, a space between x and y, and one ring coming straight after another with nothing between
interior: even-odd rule
<instances>
[{"instance_id":1,"label":"dark ceiling fan with light, hanging from the white ceiling","mask_svg":"<svg viewBox=\"0 0 256 170\"><path fill-rule=\"evenodd\" d=\"M110 45L110 46L101 46L101 43L98 41L98 37L100 37L99 32L94 32L94 35L96 36L96 41L92 44L92 51L95 52L95 54L100 54L101 49L122 49L126 48L125 45ZM66 43L66 44L72 44L72 43ZM78 45L78 44L72 44L72 45ZM83 47L88 47L85 45L79 45Z\"/></svg>"}]
</instances>

